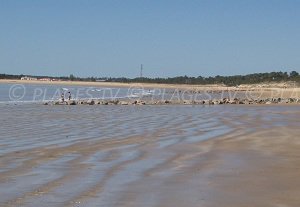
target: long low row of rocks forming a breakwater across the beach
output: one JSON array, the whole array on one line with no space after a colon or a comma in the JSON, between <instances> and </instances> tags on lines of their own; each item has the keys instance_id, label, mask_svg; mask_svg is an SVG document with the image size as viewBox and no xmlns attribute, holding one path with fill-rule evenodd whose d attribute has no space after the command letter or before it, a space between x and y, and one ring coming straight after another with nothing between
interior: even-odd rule
<instances>
[{"instance_id":1,"label":"long low row of rocks forming a breakwater across the beach","mask_svg":"<svg viewBox=\"0 0 300 207\"><path fill-rule=\"evenodd\" d=\"M221 105L221 104L300 104L299 98L267 98L267 99L211 99L191 100L69 100L52 101L44 105Z\"/></svg>"}]
</instances>

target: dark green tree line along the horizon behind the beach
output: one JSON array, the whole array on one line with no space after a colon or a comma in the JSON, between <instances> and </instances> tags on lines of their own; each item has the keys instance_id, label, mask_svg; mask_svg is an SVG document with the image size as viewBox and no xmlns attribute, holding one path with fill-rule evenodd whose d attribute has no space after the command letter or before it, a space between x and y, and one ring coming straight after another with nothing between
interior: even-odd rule
<instances>
[{"instance_id":1,"label":"dark green tree line along the horizon behind the beach","mask_svg":"<svg viewBox=\"0 0 300 207\"><path fill-rule=\"evenodd\" d=\"M24 75L8 75L0 74L0 79L20 79ZM269 73L253 73L248 75L234 75L234 76L214 76L214 77L189 77L189 76L177 76L169 78L112 78L112 77L88 77L80 78L74 75L51 77L51 76L30 76L35 78L51 78L68 81L105 81L105 82L122 82L122 83L165 83L165 84L224 84L227 86L237 86L241 84L257 84L266 82L286 82L295 81L300 83L300 75L297 71L288 72L269 72Z\"/></svg>"}]
</instances>

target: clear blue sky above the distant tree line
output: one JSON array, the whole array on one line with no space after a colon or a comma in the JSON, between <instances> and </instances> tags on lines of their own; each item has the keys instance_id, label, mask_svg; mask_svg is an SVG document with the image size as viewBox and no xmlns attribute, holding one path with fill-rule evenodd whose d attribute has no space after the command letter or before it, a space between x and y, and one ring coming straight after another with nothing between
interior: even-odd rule
<instances>
[{"instance_id":1,"label":"clear blue sky above the distant tree line","mask_svg":"<svg viewBox=\"0 0 300 207\"><path fill-rule=\"evenodd\" d=\"M300 70L300 1L0 0L0 73Z\"/></svg>"}]
</instances>

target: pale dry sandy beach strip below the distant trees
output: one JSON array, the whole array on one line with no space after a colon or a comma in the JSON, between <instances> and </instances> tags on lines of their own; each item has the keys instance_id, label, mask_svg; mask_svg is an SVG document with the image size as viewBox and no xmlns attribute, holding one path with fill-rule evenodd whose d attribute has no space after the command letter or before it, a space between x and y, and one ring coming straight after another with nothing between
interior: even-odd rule
<instances>
[{"instance_id":1,"label":"pale dry sandy beach strip below the distant trees","mask_svg":"<svg viewBox=\"0 0 300 207\"><path fill-rule=\"evenodd\" d=\"M218 92L242 92L252 93L260 98L300 98L300 87L286 87L285 83L247 84L239 87L229 87L219 84L214 85L187 85L187 84L160 84L160 83L119 83L119 82L83 82L83 81L28 81L0 79L0 84L38 84L38 85L65 85L65 86L90 86L108 88L144 88L144 89L169 89L182 90L190 93L203 91Z\"/></svg>"}]
</instances>

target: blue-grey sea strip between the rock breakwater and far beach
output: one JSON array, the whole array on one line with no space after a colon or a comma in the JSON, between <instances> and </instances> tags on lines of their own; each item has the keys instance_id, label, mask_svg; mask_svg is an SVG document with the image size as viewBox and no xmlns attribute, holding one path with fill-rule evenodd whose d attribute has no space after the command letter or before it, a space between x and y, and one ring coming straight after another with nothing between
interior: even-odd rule
<instances>
[{"instance_id":1,"label":"blue-grey sea strip between the rock breakwater and far beach","mask_svg":"<svg viewBox=\"0 0 300 207\"><path fill-rule=\"evenodd\" d=\"M105 88L92 86L70 86L49 84L14 84L0 83L0 104L24 104L56 101L64 94L68 99L71 93L72 100L171 100L171 101L202 101L208 99L223 98L257 98L257 94L251 91L219 91L192 93L189 90L143 88L136 86L131 88Z\"/></svg>"}]
</instances>

